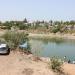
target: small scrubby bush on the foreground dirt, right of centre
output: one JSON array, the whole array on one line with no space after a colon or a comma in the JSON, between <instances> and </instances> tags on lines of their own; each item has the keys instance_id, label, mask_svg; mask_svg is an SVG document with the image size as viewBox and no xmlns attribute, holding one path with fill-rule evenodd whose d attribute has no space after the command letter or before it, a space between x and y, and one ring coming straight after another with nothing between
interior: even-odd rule
<instances>
[{"instance_id":1,"label":"small scrubby bush on the foreground dirt, right of centre","mask_svg":"<svg viewBox=\"0 0 75 75\"><path fill-rule=\"evenodd\" d=\"M51 69L54 71L54 72L63 72L62 71L62 64L63 62L60 61L58 58L51 58Z\"/></svg>"}]
</instances>

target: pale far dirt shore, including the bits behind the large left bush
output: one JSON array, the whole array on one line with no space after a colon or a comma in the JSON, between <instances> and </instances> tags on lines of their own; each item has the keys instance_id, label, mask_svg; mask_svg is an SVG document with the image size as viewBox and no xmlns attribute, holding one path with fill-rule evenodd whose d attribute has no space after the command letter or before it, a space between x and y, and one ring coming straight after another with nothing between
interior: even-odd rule
<instances>
[{"instance_id":1,"label":"pale far dirt shore, including the bits behind the large left bush","mask_svg":"<svg viewBox=\"0 0 75 75\"><path fill-rule=\"evenodd\" d=\"M3 35L6 31L8 30L0 30L0 36ZM62 38L62 39L73 39L75 40L75 33L73 34L63 34L63 33L30 33L30 32L27 32L25 30L19 30L18 32L25 32L25 33L28 33L29 34L29 37L31 38Z\"/></svg>"}]
</instances>

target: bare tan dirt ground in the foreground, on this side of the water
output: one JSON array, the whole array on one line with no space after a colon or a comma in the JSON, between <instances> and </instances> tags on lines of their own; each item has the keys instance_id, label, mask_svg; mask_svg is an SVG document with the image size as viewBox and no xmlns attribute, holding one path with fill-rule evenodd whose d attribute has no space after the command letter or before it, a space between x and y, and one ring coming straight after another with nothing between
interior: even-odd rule
<instances>
[{"instance_id":1,"label":"bare tan dirt ground in the foreground, on this side of the water","mask_svg":"<svg viewBox=\"0 0 75 75\"><path fill-rule=\"evenodd\" d=\"M0 75L56 75L48 64L43 61L33 61L32 55L22 55L11 52L10 55L0 55ZM75 75L75 65L64 64L66 73Z\"/></svg>"}]
</instances>

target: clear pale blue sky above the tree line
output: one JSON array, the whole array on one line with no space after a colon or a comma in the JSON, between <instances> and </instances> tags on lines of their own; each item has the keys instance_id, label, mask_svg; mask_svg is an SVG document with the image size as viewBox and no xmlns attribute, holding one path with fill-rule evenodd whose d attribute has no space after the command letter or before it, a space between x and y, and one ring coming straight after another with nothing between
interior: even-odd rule
<instances>
[{"instance_id":1,"label":"clear pale blue sky above the tree line","mask_svg":"<svg viewBox=\"0 0 75 75\"><path fill-rule=\"evenodd\" d=\"M0 0L0 21L75 20L75 0Z\"/></svg>"}]
</instances>

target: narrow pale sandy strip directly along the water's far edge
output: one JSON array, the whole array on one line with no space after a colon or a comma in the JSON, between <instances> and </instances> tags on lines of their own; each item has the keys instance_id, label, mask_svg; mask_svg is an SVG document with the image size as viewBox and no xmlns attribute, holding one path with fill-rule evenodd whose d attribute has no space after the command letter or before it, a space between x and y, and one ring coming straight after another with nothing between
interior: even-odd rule
<instances>
[{"instance_id":1,"label":"narrow pale sandy strip directly along the water's far edge","mask_svg":"<svg viewBox=\"0 0 75 75\"><path fill-rule=\"evenodd\" d=\"M29 33L29 37L31 38L63 38L63 39L74 39L75 40L75 34L34 34Z\"/></svg>"}]
</instances>

